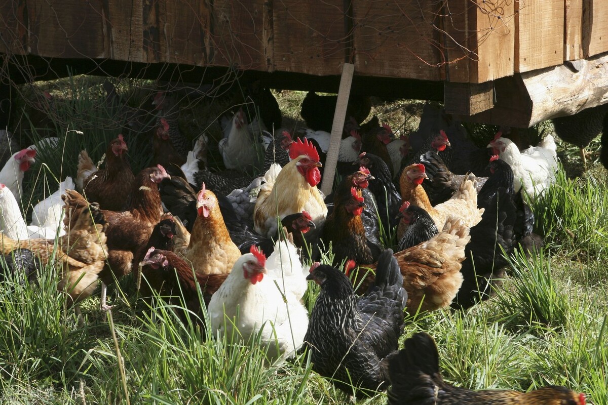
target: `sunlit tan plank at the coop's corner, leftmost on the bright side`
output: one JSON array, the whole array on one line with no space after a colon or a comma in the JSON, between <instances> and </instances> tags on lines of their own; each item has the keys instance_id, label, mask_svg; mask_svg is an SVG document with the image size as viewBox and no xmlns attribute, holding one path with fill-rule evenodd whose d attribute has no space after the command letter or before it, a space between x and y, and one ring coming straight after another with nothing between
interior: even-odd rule
<instances>
[{"instance_id":1,"label":"sunlit tan plank at the coop's corner, leftmost on the bright side","mask_svg":"<svg viewBox=\"0 0 608 405\"><path fill-rule=\"evenodd\" d=\"M471 7L471 20L477 22L475 38L477 47L473 47L471 41L469 44L477 55L477 63L471 65L469 81L483 83L513 75L517 32L516 4L520 2L516 0L476 0L476 2L477 5Z\"/></svg>"}]
</instances>

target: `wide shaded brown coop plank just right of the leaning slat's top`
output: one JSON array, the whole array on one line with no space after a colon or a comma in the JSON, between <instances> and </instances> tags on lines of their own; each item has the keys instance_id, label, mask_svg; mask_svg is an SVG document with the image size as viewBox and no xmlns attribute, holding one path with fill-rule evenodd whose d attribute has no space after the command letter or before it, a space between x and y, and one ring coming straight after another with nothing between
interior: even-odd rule
<instances>
[{"instance_id":1,"label":"wide shaded brown coop plank just right of the leaning slat's top","mask_svg":"<svg viewBox=\"0 0 608 405\"><path fill-rule=\"evenodd\" d=\"M353 4L354 64L358 74L440 80L443 2L372 1Z\"/></svg>"}]
</instances>

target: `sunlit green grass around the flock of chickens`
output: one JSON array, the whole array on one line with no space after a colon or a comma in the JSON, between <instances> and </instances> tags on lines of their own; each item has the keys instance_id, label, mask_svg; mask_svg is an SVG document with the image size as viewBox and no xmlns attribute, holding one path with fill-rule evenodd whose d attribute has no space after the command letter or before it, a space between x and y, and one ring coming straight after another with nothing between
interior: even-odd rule
<instances>
[{"instance_id":1,"label":"sunlit green grass around the flock of chickens","mask_svg":"<svg viewBox=\"0 0 608 405\"><path fill-rule=\"evenodd\" d=\"M91 107L101 97L100 93L85 96L88 93L80 81L74 81L70 91L83 94L72 112ZM282 106L291 106L294 120L297 100L302 97L292 92L278 94ZM382 112L382 107L375 108ZM108 123L103 114L98 112L98 122ZM103 145L117 132L77 118L57 128L57 136L62 141L76 139L80 146L98 145L95 153L103 153ZM69 132L72 129L83 131L86 138ZM40 175L27 180L29 192L35 193L33 200L40 198L36 193L43 188L54 191L62 175L74 174L80 146L72 149L66 142L61 156L47 155L46 165L32 169L38 173L43 167ZM574 156L576 151L567 153ZM58 162L63 165L57 166ZM134 168L145 165L143 152L134 154L132 162ZM44 173L46 186L32 186L36 178L44 184ZM587 393L590 403L608 405L605 179L606 171L595 165L581 179L559 173L556 185L533 204L537 230L545 234L545 250L530 259L520 255L511 259L510 276L495 298L465 312L444 310L409 319L405 336L425 330L437 340L446 381L471 389L530 390L561 384ZM331 252L324 260L330 259ZM126 301L111 290L111 301L117 304L112 311L113 327L98 310L98 295L83 302L85 322L78 322L74 311L66 307L65 297L57 293L54 268L42 272L38 286L22 287L13 279L1 284L0 403L351 402L311 371L307 356L262 367L264 353L255 340L233 345L192 323L182 324L167 305L148 308L137 299L133 284L131 276L119 282ZM305 297L309 307L317 293L318 287L311 285ZM385 394L378 393L357 402L378 405L385 401Z\"/></svg>"}]
</instances>

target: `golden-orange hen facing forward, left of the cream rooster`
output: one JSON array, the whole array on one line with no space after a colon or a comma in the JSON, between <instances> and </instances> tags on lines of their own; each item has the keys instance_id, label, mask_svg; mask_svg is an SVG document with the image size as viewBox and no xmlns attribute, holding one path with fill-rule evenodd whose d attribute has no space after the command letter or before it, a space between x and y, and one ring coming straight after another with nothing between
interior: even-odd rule
<instances>
[{"instance_id":1,"label":"golden-orange hen facing forward, left of the cream rooster","mask_svg":"<svg viewBox=\"0 0 608 405\"><path fill-rule=\"evenodd\" d=\"M196 196L196 211L188 245L179 246L176 240L176 253L184 257L197 274L229 273L241 252L230 239L217 197L204 184ZM176 231L181 233L179 229Z\"/></svg>"}]
</instances>

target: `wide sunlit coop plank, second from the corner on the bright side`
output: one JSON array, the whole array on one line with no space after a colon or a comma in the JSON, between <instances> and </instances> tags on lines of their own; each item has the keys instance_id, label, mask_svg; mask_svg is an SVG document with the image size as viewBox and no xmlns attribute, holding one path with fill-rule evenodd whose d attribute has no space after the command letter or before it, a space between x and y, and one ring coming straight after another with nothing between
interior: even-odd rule
<instances>
[{"instance_id":1,"label":"wide sunlit coop plank, second from the corner on the bright side","mask_svg":"<svg viewBox=\"0 0 608 405\"><path fill-rule=\"evenodd\" d=\"M564 61L564 0L517 1L516 72L556 66Z\"/></svg>"}]
</instances>

